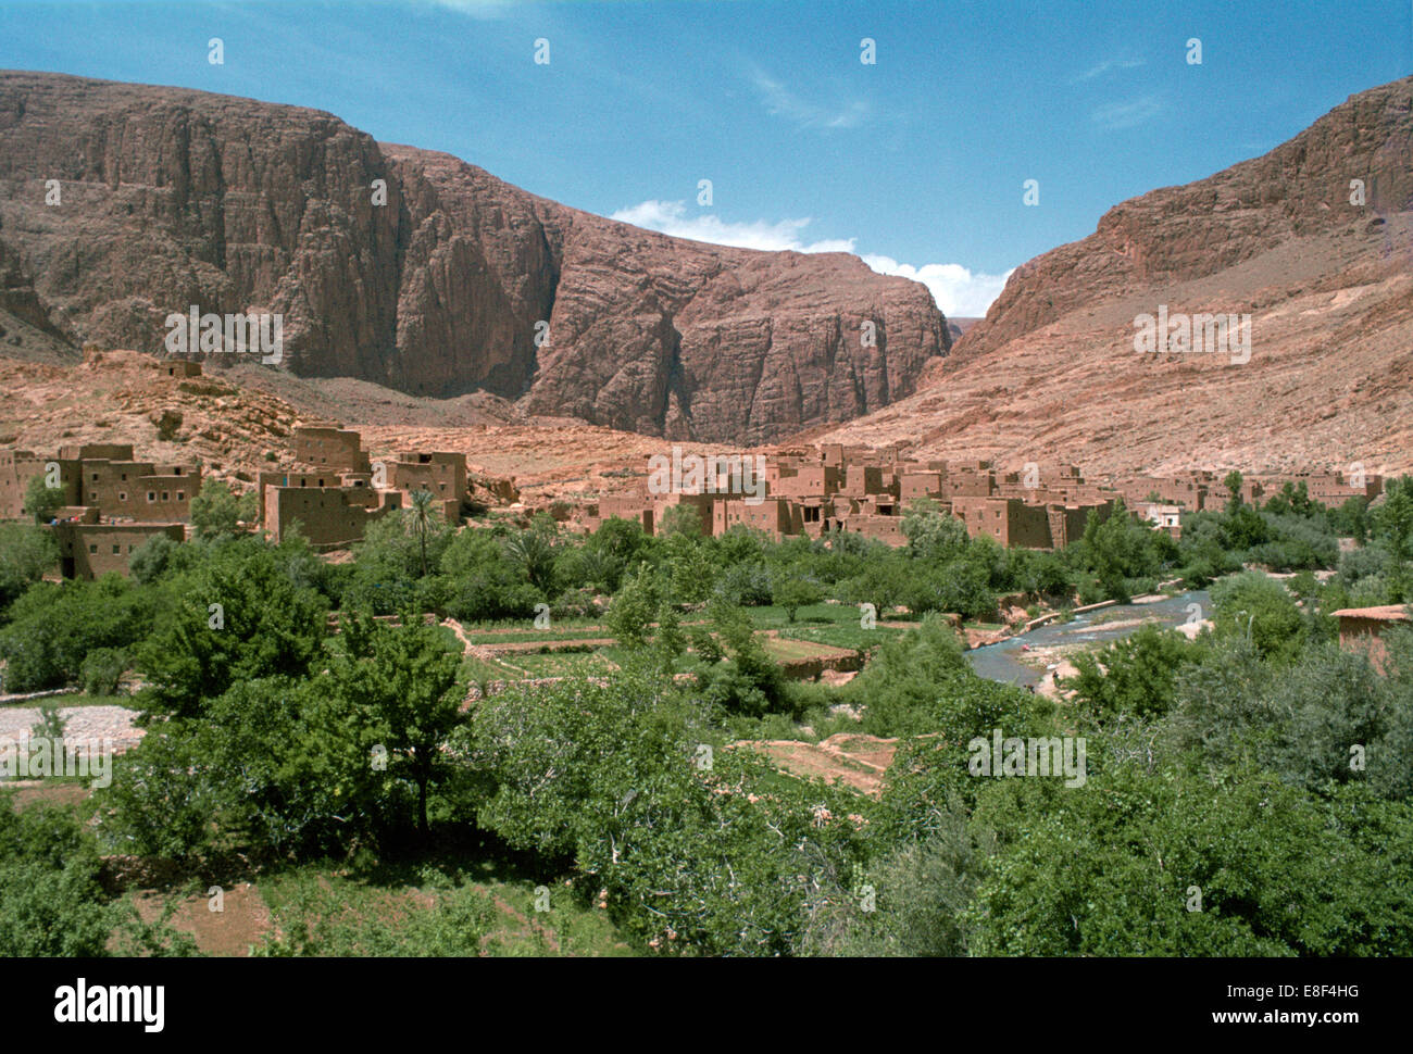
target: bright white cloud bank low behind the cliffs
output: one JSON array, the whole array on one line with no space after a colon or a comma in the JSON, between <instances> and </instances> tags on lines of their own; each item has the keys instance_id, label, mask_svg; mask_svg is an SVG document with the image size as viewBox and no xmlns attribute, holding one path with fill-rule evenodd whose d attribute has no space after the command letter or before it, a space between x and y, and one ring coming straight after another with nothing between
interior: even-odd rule
<instances>
[{"instance_id":1,"label":"bright white cloud bank low behind the cliffs","mask_svg":"<svg viewBox=\"0 0 1413 1054\"><path fill-rule=\"evenodd\" d=\"M738 249L783 250L797 253L853 253L858 239L835 237L820 242L805 242L804 229L811 220L783 219L774 223L756 220L753 223L726 223L712 213L687 215L687 203L680 201L646 201L626 209L619 209L610 219L632 223L649 230L658 230L673 237L690 237L694 242L709 242L718 246ZM986 314L991 302L1006 287L1005 274L982 274L961 264L900 264L889 256L873 253L858 254L879 274L896 274L920 281L933 294L944 315L979 318ZM1015 268L1012 268L1015 270Z\"/></svg>"}]
</instances>

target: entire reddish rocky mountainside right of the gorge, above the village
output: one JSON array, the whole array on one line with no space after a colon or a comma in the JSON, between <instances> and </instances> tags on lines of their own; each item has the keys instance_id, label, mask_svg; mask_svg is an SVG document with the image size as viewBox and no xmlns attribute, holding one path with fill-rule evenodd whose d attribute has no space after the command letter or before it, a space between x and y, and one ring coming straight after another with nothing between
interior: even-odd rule
<instances>
[{"instance_id":1,"label":"entire reddish rocky mountainside right of the gorge, above the village","mask_svg":"<svg viewBox=\"0 0 1413 1054\"><path fill-rule=\"evenodd\" d=\"M1135 350L1159 305L1249 314L1249 362ZM1115 206L1017 268L916 396L808 435L1115 475L1413 470L1413 78Z\"/></svg>"}]
</instances>

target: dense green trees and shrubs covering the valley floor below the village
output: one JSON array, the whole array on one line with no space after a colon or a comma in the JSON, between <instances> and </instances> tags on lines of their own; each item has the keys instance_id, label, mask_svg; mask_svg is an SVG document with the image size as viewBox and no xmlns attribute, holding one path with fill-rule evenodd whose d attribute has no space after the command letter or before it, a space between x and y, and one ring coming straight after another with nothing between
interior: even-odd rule
<instances>
[{"instance_id":1,"label":"dense green trees and shrubs covering the valley floor below the village","mask_svg":"<svg viewBox=\"0 0 1413 1054\"><path fill-rule=\"evenodd\" d=\"M969 538L928 503L897 548L709 537L687 507L656 537L547 516L452 531L414 503L346 564L240 535L229 495L208 497L201 537L146 545L131 581L37 582L44 543L6 535L7 687L106 694L131 667L147 735L93 824L0 807L0 951L102 954L119 928L189 951L133 930L99 889L103 852L301 866L469 835L643 952L1413 954L1413 630L1388 634L1381 671L1331 617L1407 598L1407 482L1372 509L1234 496L1178 543L1119 510L1058 554ZM1067 702L978 677L948 617L1170 578L1215 581L1211 630L1078 656ZM613 663L472 692L486 664L448 617L581 651L612 637ZM811 640L868 663L839 687L788 680L777 656ZM879 797L756 746L834 732L897 740ZM1077 781L976 764L978 742L1075 738ZM261 954L478 954L492 917L463 877L396 924L309 884Z\"/></svg>"}]
</instances>

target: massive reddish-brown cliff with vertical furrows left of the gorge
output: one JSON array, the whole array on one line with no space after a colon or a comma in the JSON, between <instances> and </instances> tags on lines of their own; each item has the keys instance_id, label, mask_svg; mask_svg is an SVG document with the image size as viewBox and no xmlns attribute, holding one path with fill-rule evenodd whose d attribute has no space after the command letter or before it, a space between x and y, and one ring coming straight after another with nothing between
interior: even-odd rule
<instances>
[{"instance_id":1,"label":"massive reddish-brown cliff with vertical furrows left of the gorge","mask_svg":"<svg viewBox=\"0 0 1413 1054\"><path fill-rule=\"evenodd\" d=\"M951 348L923 285L849 254L673 239L328 113L49 73L0 73L0 261L8 309L75 348L280 312L301 376L711 442L877 410Z\"/></svg>"}]
</instances>

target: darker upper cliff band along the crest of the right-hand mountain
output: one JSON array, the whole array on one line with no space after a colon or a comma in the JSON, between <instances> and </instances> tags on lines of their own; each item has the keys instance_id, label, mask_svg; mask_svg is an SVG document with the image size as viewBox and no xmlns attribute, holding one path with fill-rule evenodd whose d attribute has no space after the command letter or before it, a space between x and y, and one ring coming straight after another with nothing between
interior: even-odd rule
<instances>
[{"instance_id":1,"label":"darker upper cliff band along the crest of the right-hand mountain","mask_svg":"<svg viewBox=\"0 0 1413 1054\"><path fill-rule=\"evenodd\" d=\"M1269 154L1113 206L1089 237L1016 268L962 350L995 350L1081 305L1217 274L1296 239L1407 212L1410 158L1413 78L1405 78L1351 96ZM1351 202L1355 179L1362 206Z\"/></svg>"}]
</instances>

